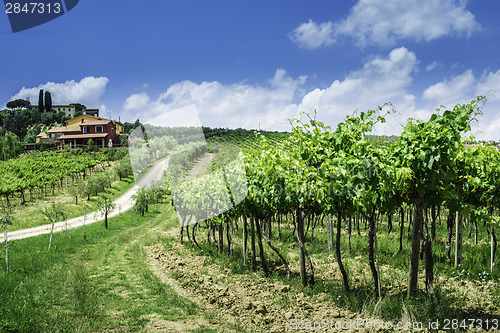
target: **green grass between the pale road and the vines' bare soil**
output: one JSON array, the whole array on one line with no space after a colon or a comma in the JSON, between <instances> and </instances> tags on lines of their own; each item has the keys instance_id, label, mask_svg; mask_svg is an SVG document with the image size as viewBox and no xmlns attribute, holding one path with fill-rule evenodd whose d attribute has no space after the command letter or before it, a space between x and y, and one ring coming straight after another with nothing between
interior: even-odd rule
<instances>
[{"instance_id":1,"label":"green grass between the pale road and the vines' bare soil","mask_svg":"<svg viewBox=\"0 0 500 333\"><path fill-rule=\"evenodd\" d=\"M102 223L88 225L86 239L80 228L68 237L56 233L51 251L47 235L10 242L10 271L0 268L0 332L141 331L151 320L205 318L145 260L144 246L176 223L164 203L144 217L113 217L107 231Z\"/></svg>"}]
</instances>

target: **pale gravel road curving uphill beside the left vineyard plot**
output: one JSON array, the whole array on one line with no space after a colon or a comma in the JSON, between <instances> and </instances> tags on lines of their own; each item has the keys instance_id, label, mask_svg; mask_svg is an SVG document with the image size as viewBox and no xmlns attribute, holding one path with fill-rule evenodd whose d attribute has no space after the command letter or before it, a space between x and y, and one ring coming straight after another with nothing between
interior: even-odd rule
<instances>
[{"instance_id":1,"label":"pale gravel road curving uphill beside the left vineyard plot","mask_svg":"<svg viewBox=\"0 0 500 333\"><path fill-rule=\"evenodd\" d=\"M168 166L168 158L158 162L144 177L142 177L137 184L125 192L121 197L114 201L116 207L113 209L111 213L108 214L108 217L113 217L121 212L129 210L133 207L134 202L132 200L132 196L137 193L140 187L149 187L155 181L161 179L163 175L163 171L167 169ZM72 228L78 228L83 226L84 224L91 224L98 221L104 220L104 214L99 212L89 212L86 216L78 216L66 221L57 222L54 224L54 232L63 231ZM48 234L50 233L52 225L46 224L39 227L16 230L8 233L9 240L23 239L28 237L34 237L38 235ZM3 243L5 240L4 234L0 235L0 243Z\"/></svg>"}]
</instances>

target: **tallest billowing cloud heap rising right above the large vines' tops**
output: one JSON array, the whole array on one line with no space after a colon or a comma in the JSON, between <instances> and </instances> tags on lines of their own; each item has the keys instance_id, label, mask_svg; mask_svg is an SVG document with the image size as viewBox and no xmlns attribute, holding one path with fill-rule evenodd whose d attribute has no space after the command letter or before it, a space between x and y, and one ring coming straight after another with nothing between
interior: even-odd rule
<instances>
[{"instance_id":1,"label":"tallest billowing cloud heap rising right above the large vines' tops","mask_svg":"<svg viewBox=\"0 0 500 333\"><path fill-rule=\"evenodd\" d=\"M395 134L407 117L425 118L425 110L415 109L415 96L409 92L412 73L417 66L413 52L404 47L392 50L386 57L368 61L360 70L349 73L342 81L334 81L326 89L315 89L304 96L300 110L319 110L319 118L332 126L354 110L376 109L391 102L401 114L391 116L379 134Z\"/></svg>"}]
</instances>

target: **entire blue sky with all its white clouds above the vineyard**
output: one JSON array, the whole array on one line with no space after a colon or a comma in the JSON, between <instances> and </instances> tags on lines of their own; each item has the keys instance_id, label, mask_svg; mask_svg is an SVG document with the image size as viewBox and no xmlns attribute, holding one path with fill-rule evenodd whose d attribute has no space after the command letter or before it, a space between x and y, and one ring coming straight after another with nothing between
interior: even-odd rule
<instances>
[{"instance_id":1,"label":"entire blue sky with all its white clouds above the vineyard","mask_svg":"<svg viewBox=\"0 0 500 333\"><path fill-rule=\"evenodd\" d=\"M122 121L195 105L203 125L335 126L391 102L427 119L489 94L476 137L500 140L497 0L97 1L12 33L0 14L0 106L52 93Z\"/></svg>"}]
</instances>

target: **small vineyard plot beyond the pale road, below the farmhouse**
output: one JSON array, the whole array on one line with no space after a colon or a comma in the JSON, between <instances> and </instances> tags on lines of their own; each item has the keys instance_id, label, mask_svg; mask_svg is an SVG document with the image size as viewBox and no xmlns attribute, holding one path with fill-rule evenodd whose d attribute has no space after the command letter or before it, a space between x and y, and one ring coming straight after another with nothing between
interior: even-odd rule
<instances>
[{"instance_id":1,"label":"small vineyard plot beyond the pale road, below the farmhouse","mask_svg":"<svg viewBox=\"0 0 500 333\"><path fill-rule=\"evenodd\" d=\"M0 204L10 204L15 221L9 231L47 224L43 210L54 202L65 206L66 219L95 211L97 192L89 192L87 198L86 191L90 190L91 181L108 182L105 176L112 182L104 189L105 193L114 200L134 185L133 178L120 181L113 175L118 165L116 160L121 157L122 153L115 152L75 154L66 151L31 153L0 162L4 170L0 176ZM71 190L74 193L70 194Z\"/></svg>"}]
</instances>

